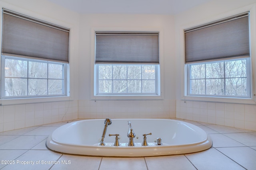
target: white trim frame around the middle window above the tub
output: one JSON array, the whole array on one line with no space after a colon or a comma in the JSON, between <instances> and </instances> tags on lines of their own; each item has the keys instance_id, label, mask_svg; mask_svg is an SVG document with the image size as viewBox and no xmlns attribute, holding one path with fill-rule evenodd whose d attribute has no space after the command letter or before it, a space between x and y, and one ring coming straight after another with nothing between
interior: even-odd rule
<instances>
[{"instance_id":1,"label":"white trim frame around the middle window above the tub","mask_svg":"<svg viewBox=\"0 0 256 170\"><path fill-rule=\"evenodd\" d=\"M95 32L96 31L125 31L125 32L159 32L159 70L158 70L158 84L160 83L160 86L158 86L158 95L111 95L111 96L100 96L95 95L95 89L94 86L96 85L96 75L94 75L94 72L96 71L96 66L94 63L95 60ZM94 27L91 29L91 100L163 100L164 98L164 78L163 73L161 70L164 70L164 57L162 55L163 52L163 31L162 29L142 29L142 28L116 28L116 27Z\"/></svg>"}]
</instances>

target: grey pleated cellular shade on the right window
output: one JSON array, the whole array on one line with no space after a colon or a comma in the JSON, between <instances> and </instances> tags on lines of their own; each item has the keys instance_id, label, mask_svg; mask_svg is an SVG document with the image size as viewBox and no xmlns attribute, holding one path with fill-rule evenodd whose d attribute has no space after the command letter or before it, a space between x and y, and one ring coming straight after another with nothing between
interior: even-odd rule
<instances>
[{"instance_id":1,"label":"grey pleated cellular shade on the right window","mask_svg":"<svg viewBox=\"0 0 256 170\"><path fill-rule=\"evenodd\" d=\"M249 13L184 31L185 63L250 57Z\"/></svg>"}]
</instances>

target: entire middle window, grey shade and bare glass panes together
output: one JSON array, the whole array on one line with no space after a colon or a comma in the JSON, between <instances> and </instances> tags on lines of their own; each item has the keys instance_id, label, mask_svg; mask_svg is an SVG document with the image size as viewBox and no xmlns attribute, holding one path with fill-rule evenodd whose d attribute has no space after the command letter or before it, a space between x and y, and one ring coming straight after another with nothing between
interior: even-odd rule
<instances>
[{"instance_id":1,"label":"entire middle window, grey shade and bare glass panes together","mask_svg":"<svg viewBox=\"0 0 256 170\"><path fill-rule=\"evenodd\" d=\"M158 33L96 32L95 95L159 95Z\"/></svg>"}]
</instances>

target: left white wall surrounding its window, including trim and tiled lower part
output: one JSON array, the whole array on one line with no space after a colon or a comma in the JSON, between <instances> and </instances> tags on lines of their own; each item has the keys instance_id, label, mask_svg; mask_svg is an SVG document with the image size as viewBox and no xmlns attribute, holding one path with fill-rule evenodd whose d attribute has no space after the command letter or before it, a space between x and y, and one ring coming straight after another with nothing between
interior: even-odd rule
<instances>
[{"instance_id":1,"label":"left white wall surrounding its window, including trim and tiled lower part","mask_svg":"<svg viewBox=\"0 0 256 170\"><path fill-rule=\"evenodd\" d=\"M42 0L1 0L0 7L71 29L70 97L0 100L0 132L77 119L79 14Z\"/></svg>"}]
</instances>

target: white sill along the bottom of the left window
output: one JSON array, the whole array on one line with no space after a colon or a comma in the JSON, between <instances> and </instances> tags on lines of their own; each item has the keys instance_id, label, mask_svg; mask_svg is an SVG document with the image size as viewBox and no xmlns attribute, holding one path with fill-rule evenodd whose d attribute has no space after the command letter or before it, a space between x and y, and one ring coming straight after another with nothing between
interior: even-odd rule
<instances>
[{"instance_id":1,"label":"white sill along the bottom of the left window","mask_svg":"<svg viewBox=\"0 0 256 170\"><path fill-rule=\"evenodd\" d=\"M36 103L44 103L44 102L64 102L64 101L70 101L70 100L73 100L70 96L0 99L0 106L18 105L18 104L36 104Z\"/></svg>"}]
</instances>

